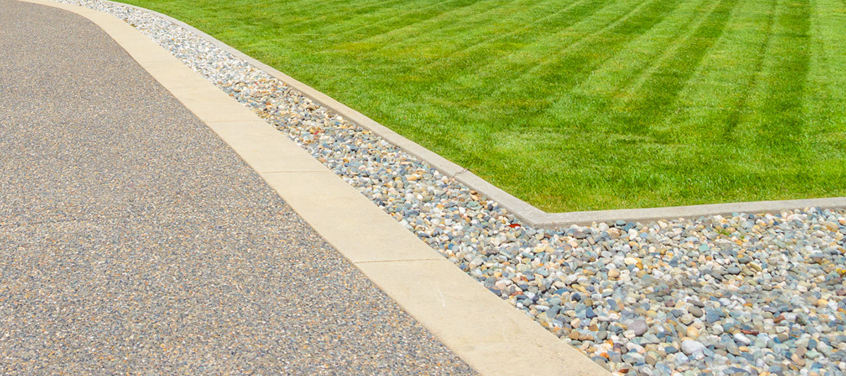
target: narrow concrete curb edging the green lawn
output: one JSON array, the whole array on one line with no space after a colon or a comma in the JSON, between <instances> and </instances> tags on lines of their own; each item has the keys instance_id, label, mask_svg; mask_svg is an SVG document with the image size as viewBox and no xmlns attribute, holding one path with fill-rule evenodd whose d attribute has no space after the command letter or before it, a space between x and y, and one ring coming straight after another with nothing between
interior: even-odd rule
<instances>
[{"instance_id":1,"label":"narrow concrete curb edging the green lawn","mask_svg":"<svg viewBox=\"0 0 846 376\"><path fill-rule=\"evenodd\" d=\"M299 82L288 74L283 74L276 68L261 63L253 57L248 56L244 52L233 48L232 46L218 41L217 38L206 34L205 32L196 29L194 26L185 24L179 19L174 19L167 14L161 14L151 9L141 8L127 3L113 2L111 0L103 0L107 3L115 3L124 5L130 8L135 8L140 11L156 14L162 19L167 19L173 24L189 30L195 35L200 36L206 41L211 42L215 46L220 47L223 51L231 53L235 57L239 57L247 63L252 64L255 68L265 71L267 74L281 80L288 86L299 90L303 95L309 97L312 101L320 103L338 115L348 119L350 122L359 125L362 128L368 129L374 134L382 137L387 142L396 145L398 148L404 150L410 155L414 155L421 161L425 161L437 171L453 177L459 183L463 183L468 188L475 190L478 193L486 196L493 201L499 203L501 207L508 210L514 216L518 217L528 226L535 226L541 228L558 228L570 225L591 225L594 222L608 222L608 221L651 221L659 219L677 219L677 218L697 218L705 215L730 215L732 213L761 213L761 212L776 212L781 210L795 210L816 207L821 209L846 209L846 197L833 197L824 199L788 199L788 200L773 200L773 201L751 201L727 204L698 204L687 206L667 206L660 208L645 208L645 209L618 209L618 210L591 210L591 211L572 211L566 213L547 213L546 211L536 208L522 199L514 197L511 193L505 192L492 183L488 183L485 179L476 176L468 169L459 166L452 161L438 155L437 153L420 146L410 139L397 134L391 129L376 123L370 117L366 117L361 112L355 111L349 106L334 100L329 95L323 94L318 90L310 87L307 84Z\"/></svg>"}]
</instances>

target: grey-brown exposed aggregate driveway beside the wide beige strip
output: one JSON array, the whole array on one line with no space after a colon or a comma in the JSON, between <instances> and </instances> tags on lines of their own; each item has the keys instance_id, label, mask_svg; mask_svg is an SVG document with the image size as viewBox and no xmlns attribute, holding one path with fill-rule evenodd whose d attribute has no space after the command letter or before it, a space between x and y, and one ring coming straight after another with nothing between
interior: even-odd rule
<instances>
[{"instance_id":1,"label":"grey-brown exposed aggregate driveway beside the wide beige strip","mask_svg":"<svg viewBox=\"0 0 846 376\"><path fill-rule=\"evenodd\" d=\"M466 374L102 30L0 0L0 373Z\"/></svg>"}]
</instances>

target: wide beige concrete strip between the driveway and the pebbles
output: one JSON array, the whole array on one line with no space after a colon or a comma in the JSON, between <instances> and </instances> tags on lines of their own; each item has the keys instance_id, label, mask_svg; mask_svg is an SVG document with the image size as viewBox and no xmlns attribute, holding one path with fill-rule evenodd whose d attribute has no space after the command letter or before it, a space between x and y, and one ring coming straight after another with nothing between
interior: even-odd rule
<instances>
[{"instance_id":1,"label":"wide beige concrete strip between the driveway and the pebbles","mask_svg":"<svg viewBox=\"0 0 846 376\"><path fill-rule=\"evenodd\" d=\"M326 166L139 31L88 8L23 0L90 19L217 132L305 221L420 324L484 375L607 375L488 292Z\"/></svg>"}]
</instances>

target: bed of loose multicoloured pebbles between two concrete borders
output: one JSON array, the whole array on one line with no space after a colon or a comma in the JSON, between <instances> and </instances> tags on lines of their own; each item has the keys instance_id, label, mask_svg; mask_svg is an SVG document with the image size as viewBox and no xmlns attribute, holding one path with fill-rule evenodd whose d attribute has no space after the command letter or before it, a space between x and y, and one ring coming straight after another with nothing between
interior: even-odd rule
<instances>
[{"instance_id":1,"label":"bed of loose multicoloured pebbles between two concrete borders","mask_svg":"<svg viewBox=\"0 0 846 376\"><path fill-rule=\"evenodd\" d=\"M614 373L846 371L846 210L522 226L497 203L167 20L96 0L63 2L134 25Z\"/></svg>"}]
</instances>

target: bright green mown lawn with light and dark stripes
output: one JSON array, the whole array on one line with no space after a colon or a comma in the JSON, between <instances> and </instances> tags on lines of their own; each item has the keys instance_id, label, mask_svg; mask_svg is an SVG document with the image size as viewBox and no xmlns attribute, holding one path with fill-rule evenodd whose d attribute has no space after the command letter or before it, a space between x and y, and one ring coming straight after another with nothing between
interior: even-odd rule
<instances>
[{"instance_id":1,"label":"bright green mown lawn with light and dark stripes","mask_svg":"<svg viewBox=\"0 0 846 376\"><path fill-rule=\"evenodd\" d=\"M846 0L128 0L547 211L846 195Z\"/></svg>"}]
</instances>

